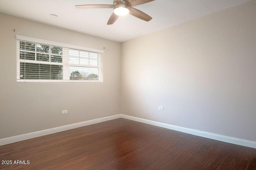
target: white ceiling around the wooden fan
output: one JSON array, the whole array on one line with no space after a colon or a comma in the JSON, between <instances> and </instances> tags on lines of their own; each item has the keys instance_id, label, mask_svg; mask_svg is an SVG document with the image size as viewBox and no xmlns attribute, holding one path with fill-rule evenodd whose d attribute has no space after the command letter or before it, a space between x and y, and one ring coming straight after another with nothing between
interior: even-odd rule
<instances>
[{"instance_id":1,"label":"white ceiling around the wooden fan","mask_svg":"<svg viewBox=\"0 0 256 170\"><path fill-rule=\"evenodd\" d=\"M0 0L0 12L61 28L123 42L152 33L250 0L156 0L134 6L150 15L149 22L134 16L107 21L113 10L77 9L75 5L112 4L113 0ZM58 18L50 17L58 15Z\"/></svg>"}]
</instances>

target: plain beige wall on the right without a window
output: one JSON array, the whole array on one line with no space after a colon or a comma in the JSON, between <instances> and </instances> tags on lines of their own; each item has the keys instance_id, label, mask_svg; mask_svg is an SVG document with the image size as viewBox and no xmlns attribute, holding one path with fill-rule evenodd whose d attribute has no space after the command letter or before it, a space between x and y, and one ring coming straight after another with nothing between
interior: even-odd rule
<instances>
[{"instance_id":1,"label":"plain beige wall on the right without a window","mask_svg":"<svg viewBox=\"0 0 256 170\"><path fill-rule=\"evenodd\" d=\"M121 113L256 141L255 4L122 43Z\"/></svg>"}]
</instances>

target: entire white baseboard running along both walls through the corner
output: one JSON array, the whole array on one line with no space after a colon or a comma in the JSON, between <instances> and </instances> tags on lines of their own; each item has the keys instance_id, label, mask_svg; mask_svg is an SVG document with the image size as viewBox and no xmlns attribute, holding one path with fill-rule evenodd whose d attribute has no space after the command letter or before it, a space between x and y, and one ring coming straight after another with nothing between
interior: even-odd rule
<instances>
[{"instance_id":1,"label":"entire white baseboard running along both walls through the corner","mask_svg":"<svg viewBox=\"0 0 256 170\"><path fill-rule=\"evenodd\" d=\"M71 124L71 125L65 125L65 126L55 127L55 128L52 128L52 129L46 129L46 130L42 130L42 131L26 133L26 134L23 134L23 135L18 135L18 136L14 136L14 137L8 137L8 138L0 139L0 146L10 144L10 143L14 143L14 142L24 141L24 140L27 140L27 139L32 139L32 138L40 137L40 136L44 136L44 135L50 135L52 133L66 131L66 130L70 130L70 129L74 129L74 128L78 128L78 127L88 126L88 125L92 125L92 124L96 124L96 123L100 123L100 122L104 122L104 121L118 119L118 118L124 118L124 119L133 120L133 121L138 121L138 122L141 122L141 123L146 123L146 124L149 124L149 125L163 127L163 128L171 129L171 130L174 130L174 131L180 131L180 132L188 133L188 134L191 134L191 135L196 135L196 136L200 136L200 137L214 139L214 140L217 140L217 141L223 141L223 142L226 142L226 143L232 143L232 144L241 145L241 146L256 149L256 142L254 142L254 141L247 141L247 140L244 140L244 139L237 139L237 138L233 138L233 137L217 135L217 134L214 134L214 133L208 133L208 132L204 132L204 131L188 129L188 128L184 128L184 127L169 125L169 124L166 124L166 123L160 123L160 122L156 122L156 121L150 121L150 120L147 120L147 119L141 119L141 118L138 118L138 117L132 117L132 116L123 115L123 114L113 115L113 116L108 116L108 117L102 117L102 118L99 118L99 119L83 121L83 122L74 123L74 124Z\"/></svg>"}]
</instances>

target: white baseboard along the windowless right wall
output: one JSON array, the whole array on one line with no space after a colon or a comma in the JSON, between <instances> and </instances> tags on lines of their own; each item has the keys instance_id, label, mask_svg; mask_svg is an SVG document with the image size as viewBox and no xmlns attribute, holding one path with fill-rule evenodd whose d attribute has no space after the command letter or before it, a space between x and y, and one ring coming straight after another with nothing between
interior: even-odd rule
<instances>
[{"instance_id":1,"label":"white baseboard along the windowless right wall","mask_svg":"<svg viewBox=\"0 0 256 170\"><path fill-rule=\"evenodd\" d=\"M141 119L141 118L138 118L138 117L132 117L132 116L128 116L128 115L122 115L121 114L121 118L129 119L129 120L133 120L133 121L138 121L138 122L141 122L141 123L146 123L146 124L150 124L150 125L154 125L154 126L158 126L158 127L163 127L163 128L171 129L171 130L174 130L174 131L180 131L180 132L188 133L188 134L191 134L191 135L196 135L196 136L200 136L200 137L214 139L214 140L217 140L217 141L232 143L232 144L235 144L235 145L241 145L241 146L256 149L256 142L253 142L253 141L247 141L247 140L244 140L244 139L238 139L238 138L233 138L233 137L227 137L227 136L224 136L224 135L217 135L217 134L214 134L214 133L208 133L208 132L204 132L204 131L188 129L188 128L185 128L185 127L169 125L169 124L166 124L166 123L150 121L150 120L147 120L147 119Z\"/></svg>"}]
</instances>

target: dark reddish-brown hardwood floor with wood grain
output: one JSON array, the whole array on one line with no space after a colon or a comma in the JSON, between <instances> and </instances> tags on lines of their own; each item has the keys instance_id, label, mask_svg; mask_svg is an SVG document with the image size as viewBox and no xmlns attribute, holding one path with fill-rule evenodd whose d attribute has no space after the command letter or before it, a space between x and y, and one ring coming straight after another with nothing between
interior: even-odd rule
<instances>
[{"instance_id":1,"label":"dark reddish-brown hardwood floor with wood grain","mask_svg":"<svg viewBox=\"0 0 256 170\"><path fill-rule=\"evenodd\" d=\"M0 146L0 160L12 170L256 170L256 149L115 119Z\"/></svg>"}]
</instances>

